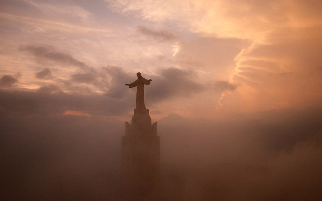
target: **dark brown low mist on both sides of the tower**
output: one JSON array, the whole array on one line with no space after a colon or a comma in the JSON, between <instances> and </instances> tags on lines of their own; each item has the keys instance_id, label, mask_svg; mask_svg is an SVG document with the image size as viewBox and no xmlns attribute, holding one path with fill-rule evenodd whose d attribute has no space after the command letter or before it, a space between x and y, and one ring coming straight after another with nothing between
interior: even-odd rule
<instances>
[{"instance_id":1,"label":"dark brown low mist on both sides of the tower","mask_svg":"<svg viewBox=\"0 0 322 201\"><path fill-rule=\"evenodd\" d=\"M321 108L158 122L161 175L140 200L322 198ZM124 122L1 110L1 200L133 200L121 179Z\"/></svg>"}]
</instances>

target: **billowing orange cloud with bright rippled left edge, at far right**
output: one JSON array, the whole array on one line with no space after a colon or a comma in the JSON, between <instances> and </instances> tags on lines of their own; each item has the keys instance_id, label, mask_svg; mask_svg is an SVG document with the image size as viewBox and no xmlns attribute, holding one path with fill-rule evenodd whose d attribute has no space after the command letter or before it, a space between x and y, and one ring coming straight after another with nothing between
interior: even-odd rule
<instances>
[{"instance_id":1,"label":"billowing orange cloud with bright rippled left edge, at far right","mask_svg":"<svg viewBox=\"0 0 322 201\"><path fill-rule=\"evenodd\" d=\"M225 96L223 108L266 110L321 105L322 39L254 44L236 58L231 81L241 83L238 93ZM225 101L227 99L227 101ZM234 105L236 107L234 107Z\"/></svg>"}]
</instances>

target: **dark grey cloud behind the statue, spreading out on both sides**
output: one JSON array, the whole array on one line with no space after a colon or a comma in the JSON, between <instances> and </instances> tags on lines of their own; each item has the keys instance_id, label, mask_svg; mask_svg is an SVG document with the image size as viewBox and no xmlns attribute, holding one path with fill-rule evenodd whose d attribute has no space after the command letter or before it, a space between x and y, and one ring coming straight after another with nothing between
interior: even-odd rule
<instances>
[{"instance_id":1,"label":"dark grey cloud behind the statue, spreading out on both sides","mask_svg":"<svg viewBox=\"0 0 322 201\"><path fill-rule=\"evenodd\" d=\"M135 100L136 89L127 90L128 86L125 86L125 83L134 82L137 79L136 72L130 74L116 66L106 67L105 71L110 76L110 88L106 93L108 97ZM159 69L159 72L158 75L141 72L144 78L152 79L153 87L145 87L145 98L149 102L156 103L173 97L190 97L206 89L196 81L198 75L192 70L170 67Z\"/></svg>"}]
</instances>

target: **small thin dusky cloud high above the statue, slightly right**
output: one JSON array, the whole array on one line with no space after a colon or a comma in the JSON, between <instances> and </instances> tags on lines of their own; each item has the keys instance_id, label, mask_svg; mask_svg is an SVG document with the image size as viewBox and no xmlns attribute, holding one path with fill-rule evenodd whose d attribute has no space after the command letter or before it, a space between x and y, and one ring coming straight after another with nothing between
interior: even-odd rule
<instances>
[{"instance_id":1,"label":"small thin dusky cloud high above the statue, slightly right","mask_svg":"<svg viewBox=\"0 0 322 201\"><path fill-rule=\"evenodd\" d=\"M137 30L139 33L147 37L152 37L157 41L172 41L174 39L177 39L175 35L166 30L153 30L145 26L138 26Z\"/></svg>"}]
</instances>

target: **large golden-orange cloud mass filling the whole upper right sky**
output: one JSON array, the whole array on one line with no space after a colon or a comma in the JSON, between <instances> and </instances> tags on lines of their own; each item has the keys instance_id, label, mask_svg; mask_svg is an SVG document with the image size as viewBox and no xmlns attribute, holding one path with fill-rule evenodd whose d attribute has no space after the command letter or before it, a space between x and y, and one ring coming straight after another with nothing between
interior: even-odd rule
<instances>
[{"instance_id":1,"label":"large golden-orange cloud mass filling the whole upper right sky","mask_svg":"<svg viewBox=\"0 0 322 201\"><path fill-rule=\"evenodd\" d=\"M117 13L176 24L176 64L241 83L220 102L227 110L321 105L322 4L319 0L107 0ZM183 35L183 34L182 34ZM230 80L231 79L231 80Z\"/></svg>"}]
</instances>

